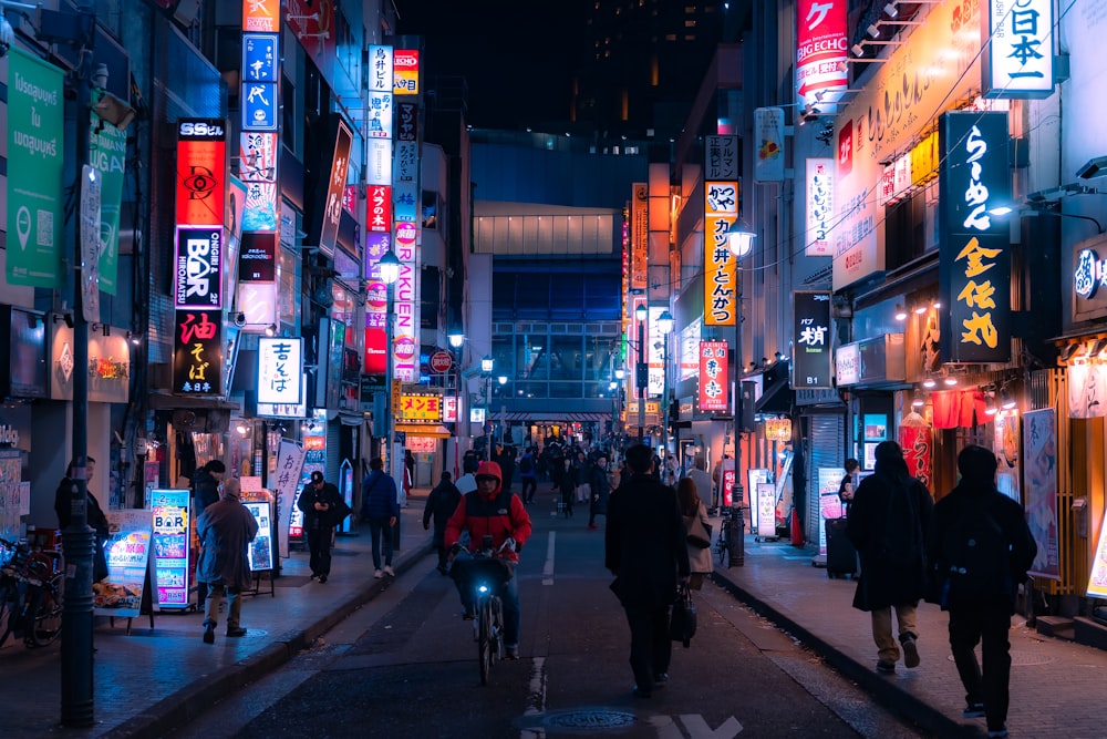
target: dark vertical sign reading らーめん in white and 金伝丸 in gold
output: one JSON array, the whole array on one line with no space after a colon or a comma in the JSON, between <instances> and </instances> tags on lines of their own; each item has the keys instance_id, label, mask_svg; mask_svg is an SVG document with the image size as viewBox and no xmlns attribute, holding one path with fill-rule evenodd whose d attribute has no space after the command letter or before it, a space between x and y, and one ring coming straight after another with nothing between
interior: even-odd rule
<instances>
[{"instance_id":1,"label":"dark vertical sign reading \u3089\u30fc\u3081\u3093 in white and \u91d1\u4f1d\u4e38 in gold","mask_svg":"<svg viewBox=\"0 0 1107 739\"><path fill-rule=\"evenodd\" d=\"M989 208L1011 201L1007 114L958 111L939 126L941 356L950 362L1011 358L1007 223Z\"/></svg>"}]
</instances>

